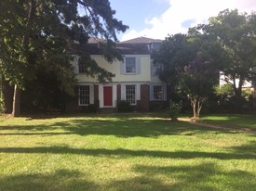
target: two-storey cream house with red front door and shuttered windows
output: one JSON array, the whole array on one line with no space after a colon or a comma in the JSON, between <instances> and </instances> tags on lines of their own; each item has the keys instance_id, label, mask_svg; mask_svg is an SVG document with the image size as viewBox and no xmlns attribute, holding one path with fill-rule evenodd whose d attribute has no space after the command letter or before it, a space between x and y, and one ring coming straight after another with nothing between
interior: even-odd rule
<instances>
[{"instance_id":1,"label":"two-storey cream house with red front door and shuttered windows","mask_svg":"<svg viewBox=\"0 0 256 191\"><path fill-rule=\"evenodd\" d=\"M124 59L113 63L107 63L97 50L92 51L91 57L98 65L115 74L109 83L99 83L83 73L77 59L74 59L72 64L77 74L77 96L66 104L67 111L84 111L91 106L116 109L122 100L128 101L137 111L149 111L154 105L166 105L167 84L159 80L159 67L153 64L151 58L152 50L158 48L160 43L160 40L145 37L118 43L116 48ZM97 46L97 41L92 41L91 46Z\"/></svg>"}]
</instances>

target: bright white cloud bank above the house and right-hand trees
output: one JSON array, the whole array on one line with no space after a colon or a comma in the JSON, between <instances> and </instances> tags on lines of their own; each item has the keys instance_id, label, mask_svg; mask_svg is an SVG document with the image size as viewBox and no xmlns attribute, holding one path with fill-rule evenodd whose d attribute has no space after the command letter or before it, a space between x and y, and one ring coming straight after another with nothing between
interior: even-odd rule
<instances>
[{"instance_id":1,"label":"bright white cloud bank above the house and right-hand trees","mask_svg":"<svg viewBox=\"0 0 256 191\"><path fill-rule=\"evenodd\" d=\"M168 34L187 32L189 27L207 22L209 17L217 16L226 8L237 8L240 12L251 13L256 10L255 0L168 0L169 8L161 16L145 19L150 27L141 31L131 29L122 40L139 36L164 39Z\"/></svg>"}]
</instances>

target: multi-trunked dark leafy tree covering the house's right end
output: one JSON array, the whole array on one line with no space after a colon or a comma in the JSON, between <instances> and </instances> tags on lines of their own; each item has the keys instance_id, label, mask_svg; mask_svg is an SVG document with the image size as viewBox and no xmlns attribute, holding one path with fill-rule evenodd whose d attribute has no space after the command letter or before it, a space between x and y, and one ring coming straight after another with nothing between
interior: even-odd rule
<instances>
[{"instance_id":1,"label":"multi-trunked dark leafy tree covering the house's right end","mask_svg":"<svg viewBox=\"0 0 256 191\"><path fill-rule=\"evenodd\" d=\"M209 36L191 29L188 34L169 36L154 55L155 63L164 65L161 79L188 96L195 118L218 82L218 57L210 54L216 51L220 48Z\"/></svg>"}]
</instances>

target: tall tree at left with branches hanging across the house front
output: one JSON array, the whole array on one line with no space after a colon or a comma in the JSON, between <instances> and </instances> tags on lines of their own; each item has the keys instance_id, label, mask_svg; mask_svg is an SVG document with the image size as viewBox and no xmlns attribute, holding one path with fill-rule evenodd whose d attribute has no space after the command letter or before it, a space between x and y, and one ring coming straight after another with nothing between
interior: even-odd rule
<instances>
[{"instance_id":1,"label":"tall tree at left with branches hanging across the house front","mask_svg":"<svg viewBox=\"0 0 256 191\"><path fill-rule=\"evenodd\" d=\"M82 8L84 15L77 9ZM0 70L14 85L13 116L20 115L20 91L36 78L44 66L54 70L62 90L72 93L74 72L67 49L75 48L89 75L109 80L113 74L102 70L89 57L89 36L103 39L101 50L112 61L121 58L115 51L116 32L128 26L114 18L108 0L5 0L0 2ZM79 50L78 50L79 49Z\"/></svg>"}]
</instances>

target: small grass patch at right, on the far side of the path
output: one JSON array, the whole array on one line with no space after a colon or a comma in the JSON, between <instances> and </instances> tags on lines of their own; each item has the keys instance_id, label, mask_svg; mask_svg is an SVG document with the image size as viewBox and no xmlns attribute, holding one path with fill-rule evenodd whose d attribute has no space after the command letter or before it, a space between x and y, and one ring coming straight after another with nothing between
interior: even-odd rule
<instances>
[{"instance_id":1,"label":"small grass patch at right, on the far side of the path","mask_svg":"<svg viewBox=\"0 0 256 191\"><path fill-rule=\"evenodd\" d=\"M226 114L203 116L200 121L231 127L242 127L256 130L256 115Z\"/></svg>"}]
</instances>

